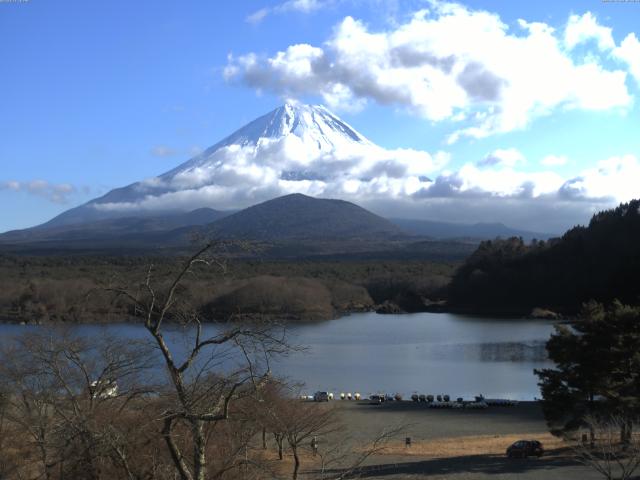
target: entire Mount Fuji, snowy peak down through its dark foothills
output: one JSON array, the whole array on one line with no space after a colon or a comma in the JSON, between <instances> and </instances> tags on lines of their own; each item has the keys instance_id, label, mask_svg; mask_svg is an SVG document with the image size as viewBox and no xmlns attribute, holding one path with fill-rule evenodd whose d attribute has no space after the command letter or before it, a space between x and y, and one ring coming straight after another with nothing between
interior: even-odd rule
<instances>
[{"instance_id":1,"label":"entire Mount Fuji, snowy peak down through its dark foothills","mask_svg":"<svg viewBox=\"0 0 640 480\"><path fill-rule=\"evenodd\" d=\"M6 232L0 243L145 248L184 244L194 228L276 242L460 237L459 226L438 225L440 234L430 234L431 225L389 222L348 201L325 200L411 195L432 183L427 174L437 163L426 152L379 147L323 106L287 103L168 172Z\"/></svg>"}]
</instances>

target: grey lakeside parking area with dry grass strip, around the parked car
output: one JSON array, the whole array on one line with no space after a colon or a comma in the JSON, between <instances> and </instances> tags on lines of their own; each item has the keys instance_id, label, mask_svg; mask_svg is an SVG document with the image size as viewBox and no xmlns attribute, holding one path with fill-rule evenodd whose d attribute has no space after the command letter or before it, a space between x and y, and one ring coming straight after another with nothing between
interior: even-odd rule
<instances>
[{"instance_id":1,"label":"grey lakeside parking area with dry grass strip, around the parked car","mask_svg":"<svg viewBox=\"0 0 640 480\"><path fill-rule=\"evenodd\" d=\"M567 479L601 478L577 463L562 443L549 436L540 405L522 402L512 407L486 410L431 409L424 403L334 401L347 426L352 448L364 448L382 429L403 426L391 448L371 457L360 478L430 478L438 480L470 479ZM547 440L548 451L542 458L510 460L501 453L513 438ZM412 447L403 451L404 438L411 437ZM486 453L483 443L487 444ZM440 440L440 441L439 441ZM459 441L459 444L456 442ZM465 443L467 442L467 443ZM549 445L550 443L550 445ZM438 445L440 444L440 445ZM469 454L465 445L469 445ZM455 451L446 454L446 445ZM434 454L434 447L439 447ZM444 449L444 450L443 450Z\"/></svg>"}]
</instances>

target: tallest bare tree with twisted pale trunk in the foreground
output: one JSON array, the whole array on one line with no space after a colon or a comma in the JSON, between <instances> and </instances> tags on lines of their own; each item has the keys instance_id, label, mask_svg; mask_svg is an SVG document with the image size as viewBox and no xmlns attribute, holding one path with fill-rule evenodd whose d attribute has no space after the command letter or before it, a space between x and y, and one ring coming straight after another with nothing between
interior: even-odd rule
<instances>
[{"instance_id":1,"label":"tallest bare tree with twisted pale trunk in the foreground","mask_svg":"<svg viewBox=\"0 0 640 480\"><path fill-rule=\"evenodd\" d=\"M271 325L232 326L207 335L199 313L180 298L182 283L198 267L226 270L226 257L212 254L220 246L200 249L164 285L151 266L140 288L109 288L129 300L162 355L169 389L163 392L168 401L161 434L182 480L208 478L207 429L229 419L234 401L259 390L270 377L269 358L287 350L284 334L274 334ZM182 358L165 337L167 322L185 327L189 346Z\"/></svg>"}]
</instances>

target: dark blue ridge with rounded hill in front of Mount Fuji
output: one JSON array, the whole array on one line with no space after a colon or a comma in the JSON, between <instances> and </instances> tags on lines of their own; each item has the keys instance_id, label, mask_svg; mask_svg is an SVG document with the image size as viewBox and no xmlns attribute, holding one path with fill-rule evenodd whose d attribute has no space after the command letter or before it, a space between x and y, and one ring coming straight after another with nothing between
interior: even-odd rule
<instances>
[{"instance_id":1,"label":"dark blue ridge with rounded hill in front of Mount Fuji","mask_svg":"<svg viewBox=\"0 0 640 480\"><path fill-rule=\"evenodd\" d=\"M411 219L385 219L344 200L303 194L278 197L237 212L201 208L187 213L161 212L141 217L102 219L80 224L43 224L0 235L0 244L127 246L138 248L187 245L199 238L248 239L267 242L478 242L496 237L545 239L503 224L461 225ZM346 247L345 247L346 248Z\"/></svg>"}]
</instances>

